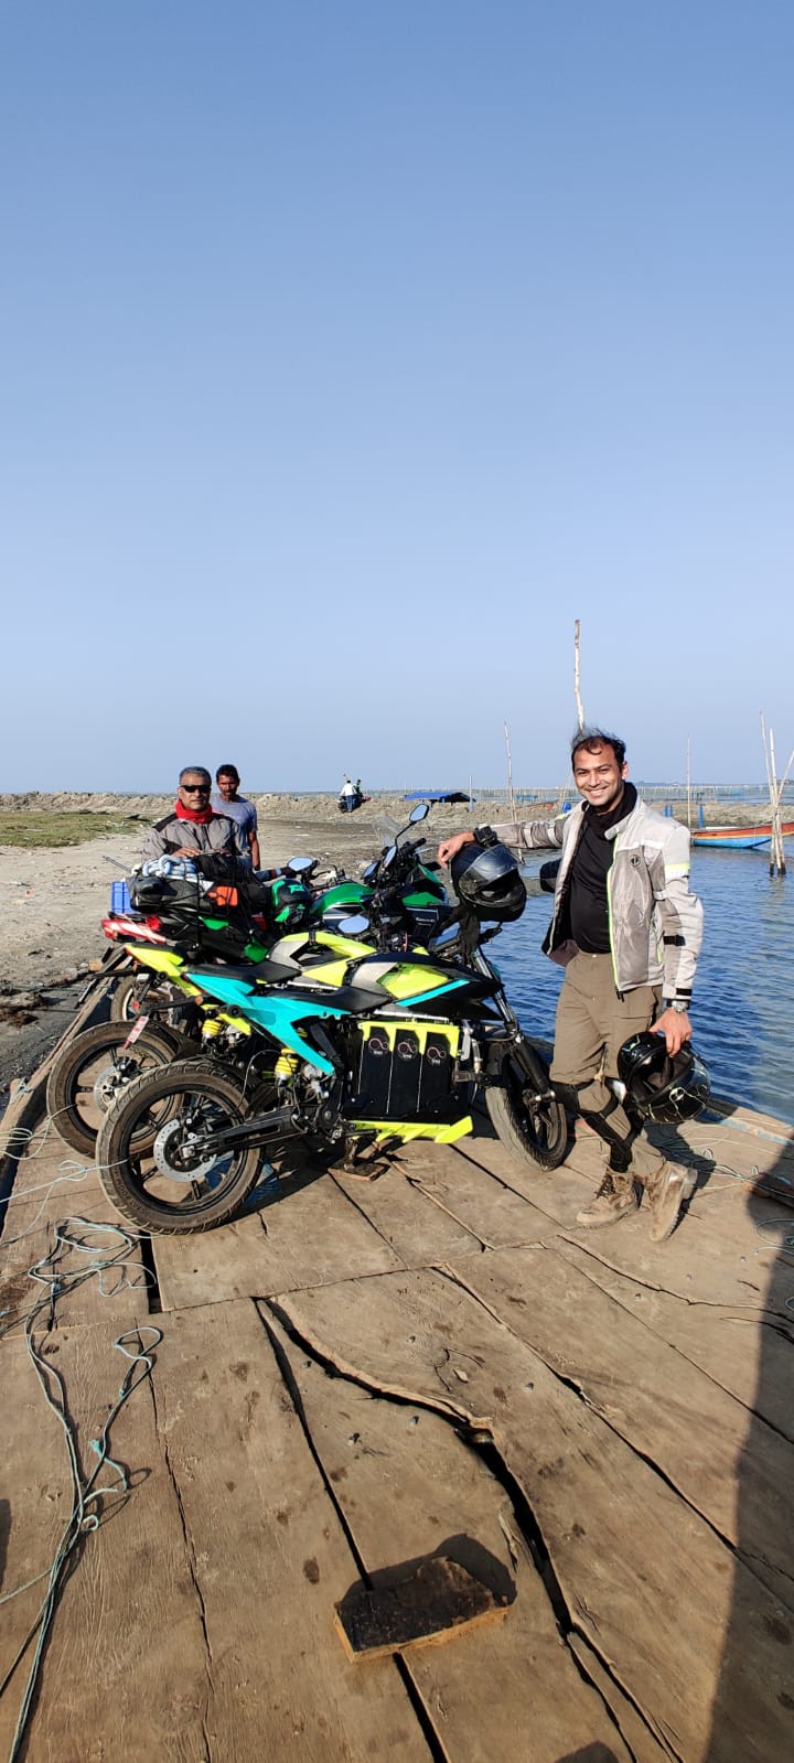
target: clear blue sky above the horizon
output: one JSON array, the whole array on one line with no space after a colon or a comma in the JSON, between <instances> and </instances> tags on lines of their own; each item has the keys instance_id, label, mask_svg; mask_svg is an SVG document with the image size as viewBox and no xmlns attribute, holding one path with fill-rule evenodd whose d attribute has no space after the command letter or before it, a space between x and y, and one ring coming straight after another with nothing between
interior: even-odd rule
<instances>
[{"instance_id":1,"label":"clear blue sky above the horizon","mask_svg":"<svg viewBox=\"0 0 794 1763\"><path fill-rule=\"evenodd\" d=\"M794 746L789 0L0 4L0 788ZM785 751L783 751L785 749Z\"/></svg>"}]
</instances>

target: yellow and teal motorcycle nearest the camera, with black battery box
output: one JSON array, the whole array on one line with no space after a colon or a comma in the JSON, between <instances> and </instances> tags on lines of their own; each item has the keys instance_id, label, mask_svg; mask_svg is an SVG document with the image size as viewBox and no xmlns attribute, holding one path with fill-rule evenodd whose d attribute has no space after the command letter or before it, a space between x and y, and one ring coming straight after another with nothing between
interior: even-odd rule
<instances>
[{"instance_id":1,"label":"yellow and teal motorcycle nearest the camera, with black battery box","mask_svg":"<svg viewBox=\"0 0 794 1763\"><path fill-rule=\"evenodd\" d=\"M482 947L524 910L515 859L496 841L464 846L457 904L429 948L411 940L402 906L411 860L390 846L367 919L342 926L344 948L307 947L298 931L256 973L191 968L205 998L279 1056L266 1082L178 1060L129 1086L97 1139L102 1185L127 1218L152 1232L206 1231L256 1186L266 1148L298 1137L351 1167L411 1139L453 1142L473 1130L478 1093L513 1155L540 1169L563 1162L565 1111Z\"/></svg>"}]
</instances>

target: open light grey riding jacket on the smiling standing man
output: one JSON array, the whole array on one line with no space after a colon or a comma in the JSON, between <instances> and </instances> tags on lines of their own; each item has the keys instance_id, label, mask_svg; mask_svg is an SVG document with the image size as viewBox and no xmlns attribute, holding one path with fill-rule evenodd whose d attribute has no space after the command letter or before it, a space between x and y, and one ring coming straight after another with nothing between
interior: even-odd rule
<instances>
[{"instance_id":1,"label":"open light grey riding jacket on the smiling standing man","mask_svg":"<svg viewBox=\"0 0 794 1763\"><path fill-rule=\"evenodd\" d=\"M577 945L563 938L563 904L584 811L586 804L579 802L558 820L494 827L505 844L563 850L554 913L543 940L545 954L563 966L577 952ZM686 827L637 797L626 818L607 829L607 839L614 839L607 910L616 989L662 986L665 998L688 1000L702 943L702 904L690 892Z\"/></svg>"}]
</instances>

